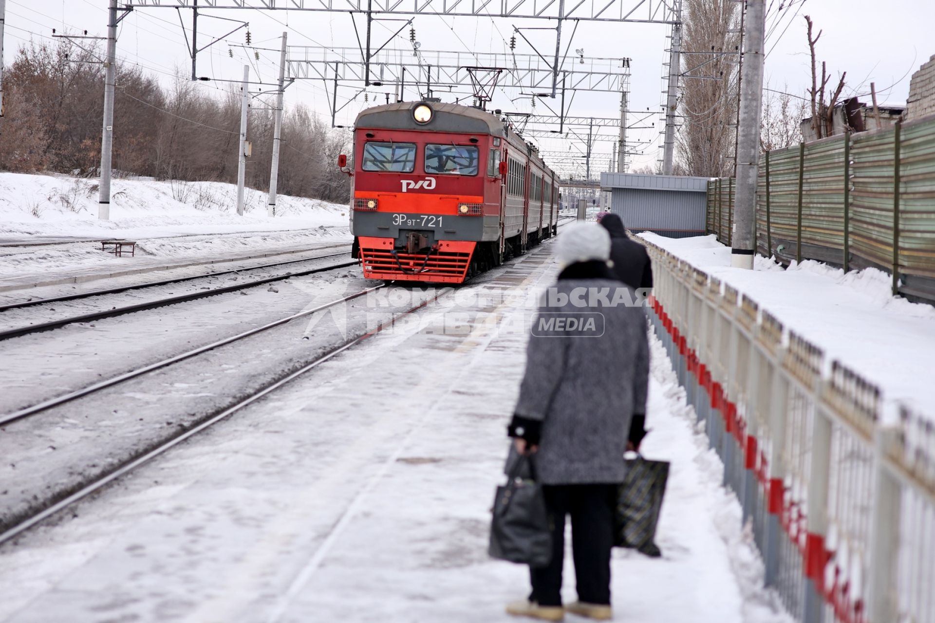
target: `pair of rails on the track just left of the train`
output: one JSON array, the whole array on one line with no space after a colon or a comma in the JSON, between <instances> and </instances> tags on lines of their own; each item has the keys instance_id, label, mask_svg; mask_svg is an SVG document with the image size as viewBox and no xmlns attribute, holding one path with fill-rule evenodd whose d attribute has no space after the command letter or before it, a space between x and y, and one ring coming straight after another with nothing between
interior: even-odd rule
<instances>
[{"instance_id":1,"label":"pair of rails on the track just left of the train","mask_svg":"<svg viewBox=\"0 0 935 623\"><path fill-rule=\"evenodd\" d=\"M130 291L130 290L145 290L148 288L155 288L155 287L166 286L166 285L174 285L174 284L183 283L187 281L193 281L195 279L203 279L206 277L241 274L247 271L260 270L260 269L266 269L266 268L275 268L278 266L285 266L285 265L295 264L299 262L315 262L318 260L327 260L330 258L348 257L348 256L349 256L348 252L332 253L329 255L322 255L322 256L317 256L314 258L306 258L304 260L289 260L287 262L272 262L272 263L267 263L267 264L261 264L259 266L251 266L250 268L227 270L227 271L221 271L218 273L211 273L209 275L176 277L173 279L162 279L160 281L151 281L151 282L147 282L144 284L137 284L134 286L122 286L119 288L108 288L105 290L93 290L90 292L66 294L64 296L51 297L48 299L36 299L33 301L24 301L22 303L0 305L0 312L7 311L10 309L21 309L24 307L30 307L30 306L39 305L39 304L52 304L52 303L60 303L64 301L84 300L88 298L93 298L95 296L116 294L119 292L125 292L125 291ZM59 329L61 327L65 327L66 325L74 324L78 322L92 322L94 320L116 318L124 314L132 314L138 311L145 311L149 309L156 309L158 307L165 307L166 305L185 303L188 301L195 301L198 299L207 298L209 296L216 296L218 294L223 294L226 292L245 290L247 288L265 285L267 283L272 283L274 281L281 281L283 279L288 279L290 277L314 275L316 273L324 273L325 271L335 270L336 268L344 268L347 266L352 266L356 263L357 263L356 260L349 259L346 262L331 263L326 266L318 266L318 267L311 268L308 270L289 271L287 273L282 273L280 275L267 276L267 277L263 277L260 279L254 279L252 281L244 281L244 282L240 282L240 283L233 284L230 286L222 286L220 288L212 288L209 290L198 290L198 291L190 292L187 294L178 294L178 295L165 297L162 299L156 299L154 301L149 301L145 303L124 305L122 307L114 307L111 309L102 310L98 312L80 314L79 316L71 316L71 317L67 317L64 319L55 319L55 320L50 320L47 322L39 322L37 324L31 324L31 325L22 326L22 327L15 327L13 329L0 331L0 341L7 340L13 337L20 337L22 335L28 335L31 333L51 331L52 329Z\"/></svg>"}]
</instances>

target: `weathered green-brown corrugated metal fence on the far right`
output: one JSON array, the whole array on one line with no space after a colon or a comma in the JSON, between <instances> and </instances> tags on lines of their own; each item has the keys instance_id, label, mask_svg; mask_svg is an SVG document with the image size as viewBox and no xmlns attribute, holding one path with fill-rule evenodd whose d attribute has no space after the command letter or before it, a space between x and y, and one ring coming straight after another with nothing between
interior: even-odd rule
<instances>
[{"instance_id":1,"label":"weathered green-brown corrugated metal fence on the far right","mask_svg":"<svg viewBox=\"0 0 935 623\"><path fill-rule=\"evenodd\" d=\"M935 116L762 154L756 249L893 276L893 294L935 302ZM735 180L708 183L706 224L726 245Z\"/></svg>"}]
</instances>

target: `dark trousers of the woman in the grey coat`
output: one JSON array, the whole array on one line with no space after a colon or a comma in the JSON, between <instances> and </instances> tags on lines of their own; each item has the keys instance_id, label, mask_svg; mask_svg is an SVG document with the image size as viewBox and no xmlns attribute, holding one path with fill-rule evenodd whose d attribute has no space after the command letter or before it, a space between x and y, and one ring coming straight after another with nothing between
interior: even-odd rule
<instances>
[{"instance_id":1,"label":"dark trousers of the woman in the grey coat","mask_svg":"<svg viewBox=\"0 0 935 623\"><path fill-rule=\"evenodd\" d=\"M552 562L529 569L532 594L539 605L562 605L562 565L565 558L565 516L571 516L571 549L575 560L578 599L611 603L611 547L616 485L544 485L545 505L552 517Z\"/></svg>"}]
</instances>

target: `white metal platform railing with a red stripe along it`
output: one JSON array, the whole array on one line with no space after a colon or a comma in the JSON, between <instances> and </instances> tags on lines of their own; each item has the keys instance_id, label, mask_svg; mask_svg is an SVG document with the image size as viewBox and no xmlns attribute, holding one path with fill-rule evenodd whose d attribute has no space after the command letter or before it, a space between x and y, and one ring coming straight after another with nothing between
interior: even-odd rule
<instances>
[{"instance_id":1,"label":"white metal platform railing with a red stripe along it","mask_svg":"<svg viewBox=\"0 0 935 623\"><path fill-rule=\"evenodd\" d=\"M932 418L889 414L846 361L640 242L654 264L654 331L724 462L767 584L806 623L935 623Z\"/></svg>"}]
</instances>

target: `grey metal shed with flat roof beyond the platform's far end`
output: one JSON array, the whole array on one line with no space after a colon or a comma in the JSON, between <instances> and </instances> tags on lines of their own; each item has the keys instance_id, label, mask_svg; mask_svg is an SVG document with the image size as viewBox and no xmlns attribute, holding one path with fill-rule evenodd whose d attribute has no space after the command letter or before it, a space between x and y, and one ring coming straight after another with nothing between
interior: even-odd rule
<instances>
[{"instance_id":1,"label":"grey metal shed with flat roof beyond the platform's far end","mask_svg":"<svg viewBox=\"0 0 935 623\"><path fill-rule=\"evenodd\" d=\"M611 212L636 234L705 234L708 177L601 173L600 190L611 193Z\"/></svg>"}]
</instances>

